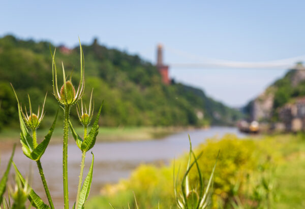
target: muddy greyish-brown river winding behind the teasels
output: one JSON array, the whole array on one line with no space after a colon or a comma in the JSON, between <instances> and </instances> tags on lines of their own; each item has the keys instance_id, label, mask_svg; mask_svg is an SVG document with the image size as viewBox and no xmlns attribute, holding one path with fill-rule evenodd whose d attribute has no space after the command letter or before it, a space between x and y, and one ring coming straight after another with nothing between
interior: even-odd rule
<instances>
[{"instance_id":1,"label":"muddy greyish-brown river winding behind the teasels","mask_svg":"<svg viewBox=\"0 0 305 209\"><path fill-rule=\"evenodd\" d=\"M121 178L128 178L131 171L141 163L168 163L171 159L187 152L189 149L188 133L194 147L203 143L209 137L221 137L226 133L233 133L240 137L245 136L234 127L211 127L209 129L183 131L159 140L99 142L92 149L95 154L95 162L90 196L99 194L103 185L107 183L115 183ZM11 150L0 148L0 151L1 173L3 173ZM62 156L62 145L50 144L41 158L55 208L63 207ZM92 155L87 152L84 176L86 176L91 160ZM75 144L70 143L68 147L68 176L71 204L75 201L80 161L80 150ZM14 162L24 176L31 173L31 185L34 191L46 200L36 163L24 156L21 147L16 148ZM29 172L29 170L32 170L32 172Z\"/></svg>"}]
</instances>

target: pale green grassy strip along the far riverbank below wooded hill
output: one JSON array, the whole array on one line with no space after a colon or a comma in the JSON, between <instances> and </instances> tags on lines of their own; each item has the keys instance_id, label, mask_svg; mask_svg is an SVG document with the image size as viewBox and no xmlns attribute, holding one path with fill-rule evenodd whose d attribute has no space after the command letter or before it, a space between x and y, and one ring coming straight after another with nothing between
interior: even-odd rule
<instances>
[{"instance_id":1,"label":"pale green grassy strip along the far riverbank below wooded hill","mask_svg":"<svg viewBox=\"0 0 305 209\"><path fill-rule=\"evenodd\" d=\"M97 141L111 142L111 141L144 141L151 139L158 139L167 135L177 133L184 130L181 127L100 127ZM75 127L78 133L83 132L83 127ZM39 139L44 137L48 132L47 129L38 129L37 136ZM62 128L55 128L51 143L58 143L62 141ZM19 129L3 129L0 132L0 141L15 141L20 138ZM73 140L70 134L70 140Z\"/></svg>"}]
</instances>

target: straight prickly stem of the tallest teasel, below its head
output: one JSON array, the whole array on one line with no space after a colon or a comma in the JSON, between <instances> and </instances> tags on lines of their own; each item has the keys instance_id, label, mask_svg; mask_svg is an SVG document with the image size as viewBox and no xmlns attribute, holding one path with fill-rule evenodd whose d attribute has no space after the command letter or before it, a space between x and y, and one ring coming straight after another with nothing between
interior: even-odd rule
<instances>
[{"instance_id":1,"label":"straight prickly stem of the tallest teasel, below its head","mask_svg":"<svg viewBox=\"0 0 305 209\"><path fill-rule=\"evenodd\" d=\"M65 106L64 119L64 143L63 143L63 182L64 182L64 205L69 209L69 190L68 190L68 128L69 128L70 105Z\"/></svg>"}]
</instances>

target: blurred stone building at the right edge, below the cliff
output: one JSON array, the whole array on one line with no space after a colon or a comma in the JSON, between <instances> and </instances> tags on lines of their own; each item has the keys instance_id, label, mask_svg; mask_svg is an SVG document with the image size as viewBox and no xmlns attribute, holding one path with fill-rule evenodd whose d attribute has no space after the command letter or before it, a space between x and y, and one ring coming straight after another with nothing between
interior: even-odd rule
<instances>
[{"instance_id":1,"label":"blurred stone building at the right edge, below the cliff","mask_svg":"<svg viewBox=\"0 0 305 209\"><path fill-rule=\"evenodd\" d=\"M305 97L286 104L279 110L279 117L287 131L305 130Z\"/></svg>"}]
</instances>

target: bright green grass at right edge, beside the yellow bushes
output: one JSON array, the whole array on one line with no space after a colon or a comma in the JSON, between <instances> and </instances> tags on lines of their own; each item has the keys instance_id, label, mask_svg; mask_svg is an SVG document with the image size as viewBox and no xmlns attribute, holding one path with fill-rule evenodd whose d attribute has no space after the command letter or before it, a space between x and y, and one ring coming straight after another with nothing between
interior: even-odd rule
<instances>
[{"instance_id":1,"label":"bright green grass at right edge, beside the yellow bushes","mask_svg":"<svg viewBox=\"0 0 305 209\"><path fill-rule=\"evenodd\" d=\"M279 135L273 144L278 144L276 150L282 155L276 169L277 200L273 208L305 208L305 135Z\"/></svg>"}]
</instances>

